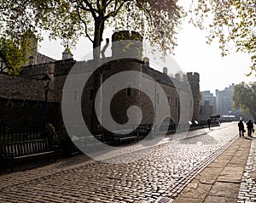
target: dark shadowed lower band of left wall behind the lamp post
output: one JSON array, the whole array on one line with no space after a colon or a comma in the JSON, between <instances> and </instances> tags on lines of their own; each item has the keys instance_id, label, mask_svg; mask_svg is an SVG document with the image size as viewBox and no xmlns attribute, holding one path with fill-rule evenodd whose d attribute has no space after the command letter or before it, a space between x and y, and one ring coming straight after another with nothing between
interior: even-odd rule
<instances>
[{"instance_id":1,"label":"dark shadowed lower band of left wall behind the lamp post","mask_svg":"<svg viewBox=\"0 0 256 203\"><path fill-rule=\"evenodd\" d=\"M44 101L1 98L0 109L0 129L44 129ZM49 102L48 121L55 126L61 126L61 109L58 103Z\"/></svg>"}]
</instances>

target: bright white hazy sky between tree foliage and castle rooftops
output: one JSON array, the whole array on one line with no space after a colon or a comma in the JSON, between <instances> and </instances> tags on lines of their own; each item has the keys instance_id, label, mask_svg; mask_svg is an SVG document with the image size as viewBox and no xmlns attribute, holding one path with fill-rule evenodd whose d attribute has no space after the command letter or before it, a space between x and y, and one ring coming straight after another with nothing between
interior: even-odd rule
<instances>
[{"instance_id":1,"label":"bright white hazy sky between tree foliage and castle rooftops","mask_svg":"<svg viewBox=\"0 0 256 203\"><path fill-rule=\"evenodd\" d=\"M251 63L248 54L232 53L222 58L218 42L207 45L206 36L207 31L183 23L183 30L177 35L178 46L174 51L175 55L172 56L183 71L200 74L201 91L210 90L215 93L216 89L223 90L232 83L256 81L255 76L245 76ZM45 39L40 46L40 53L53 59L61 59L64 48L60 42L49 42ZM76 49L72 50L74 59L82 59L91 48L92 43L81 38Z\"/></svg>"}]
</instances>

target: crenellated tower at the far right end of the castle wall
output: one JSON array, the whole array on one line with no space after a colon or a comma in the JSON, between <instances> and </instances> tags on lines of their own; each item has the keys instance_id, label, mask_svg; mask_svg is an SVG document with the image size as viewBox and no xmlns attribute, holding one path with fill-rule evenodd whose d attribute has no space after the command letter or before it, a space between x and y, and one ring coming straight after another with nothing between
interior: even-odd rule
<instances>
[{"instance_id":1,"label":"crenellated tower at the far right end of the castle wall","mask_svg":"<svg viewBox=\"0 0 256 203\"><path fill-rule=\"evenodd\" d=\"M191 87L192 95L193 95L193 103L194 103L194 110L193 110L193 121L198 121L200 118L200 76L197 72L188 72L187 78L189 81L189 85Z\"/></svg>"}]
</instances>

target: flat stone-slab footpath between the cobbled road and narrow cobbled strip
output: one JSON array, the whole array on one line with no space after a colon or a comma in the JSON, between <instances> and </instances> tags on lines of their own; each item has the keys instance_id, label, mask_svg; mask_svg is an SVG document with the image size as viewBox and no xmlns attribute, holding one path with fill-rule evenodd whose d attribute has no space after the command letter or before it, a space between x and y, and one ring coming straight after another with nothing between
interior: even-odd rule
<instances>
[{"instance_id":1,"label":"flat stone-slab footpath between the cobbled road and narrow cobbled strip","mask_svg":"<svg viewBox=\"0 0 256 203\"><path fill-rule=\"evenodd\" d=\"M236 202L251 143L252 138L238 138L199 173L173 203Z\"/></svg>"}]
</instances>

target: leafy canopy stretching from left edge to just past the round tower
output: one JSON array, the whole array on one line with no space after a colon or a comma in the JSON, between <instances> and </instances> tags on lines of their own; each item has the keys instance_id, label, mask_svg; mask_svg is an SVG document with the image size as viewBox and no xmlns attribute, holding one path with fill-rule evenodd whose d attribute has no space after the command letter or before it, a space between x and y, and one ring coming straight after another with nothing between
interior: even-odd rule
<instances>
[{"instance_id":1,"label":"leafy canopy stretching from left edge to just past the round tower","mask_svg":"<svg viewBox=\"0 0 256 203\"><path fill-rule=\"evenodd\" d=\"M0 26L7 35L44 29L50 38L60 37L65 47L84 35L97 48L108 25L115 31L139 31L164 51L176 45L176 29L183 17L177 0L3 0L0 11Z\"/></svg>"}]
</instances>

